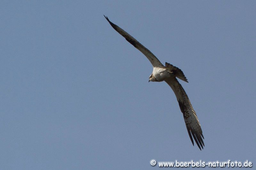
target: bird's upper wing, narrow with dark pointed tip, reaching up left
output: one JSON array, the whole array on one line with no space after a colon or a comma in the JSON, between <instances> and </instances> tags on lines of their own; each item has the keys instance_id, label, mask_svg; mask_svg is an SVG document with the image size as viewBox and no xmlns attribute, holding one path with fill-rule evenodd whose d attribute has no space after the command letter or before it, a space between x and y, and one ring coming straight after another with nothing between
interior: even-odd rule
<instances>
[{"instance_id":1,"label":"bird's upper wing, narrow with dark pointed tip, reaching up left","mask_svg":"<svg viewBox=\"0 0 256 170\"><path fill-rule=\"evenodd\" d=\"M139 41L137 41L135 38L133 38L130 34L126 33L122 28L117 26L116 24L113 24L111 21L109 21L108 17L104 15L104 17L108 20L109 24L118 32L120 33L128 42L130 42L135 48L140 50L150 61L150 63L153 65L153 67L160 67L164 68L164 65L156 58L156 56L151 53L148 48L144 47L142 44L140 44Z\"/></svg>"}]
</instances>

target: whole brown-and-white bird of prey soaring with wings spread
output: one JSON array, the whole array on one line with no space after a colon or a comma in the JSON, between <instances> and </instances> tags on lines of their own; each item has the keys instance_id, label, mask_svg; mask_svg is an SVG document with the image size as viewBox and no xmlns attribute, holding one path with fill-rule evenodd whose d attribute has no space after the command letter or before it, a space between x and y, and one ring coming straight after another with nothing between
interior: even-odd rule
<instances>
[{"instance_id":1,"label":"whole brown-and-white bird of prey soaring with wings spread","mask_svg":"<svg viewBox=\"0 0 256 170\"><path fill-rule=\"evenodd\" d=\"M192 136L194 137L194 140L201 150L204 149L204 136L203 132L200 126L200 123L198 121L198 118L196 116L196 112L193 109L188 96L183 89L183 87L178 82L177 78L188 82L187 78L183 74L183 72L178 68L173 66L172 64L165 63L165 66L156 58L156 56L151 53L146 47L144 47L142 44L140 44L139 41L137 41L135 38L133 38L130 34L125 32L122 28L117 26L116 24L112 23L108 17L104 15L104 17L108 20L109 24L119 33L121 34L128 42L130 42L135 48L140 50L150 61L150 63L153 65L153 73L149 76L150 81L156 81L161 82L165 81L173 90L174 94L176 95L176 98L178 100L180 110L183 113L184 121L186 123L186 127L188 130L188 135L190 137L190 140L192 144L194 145L194 141ZM177 77L177 78L176 78ZM203 139L202 139L203 137Z\"/></svg>"}]
</instances>

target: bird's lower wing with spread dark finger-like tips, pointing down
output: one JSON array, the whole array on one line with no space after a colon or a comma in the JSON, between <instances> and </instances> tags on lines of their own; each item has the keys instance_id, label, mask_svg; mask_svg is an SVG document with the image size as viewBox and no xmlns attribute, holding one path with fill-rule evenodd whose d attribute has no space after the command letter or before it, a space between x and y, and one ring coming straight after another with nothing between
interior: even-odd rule
<instances>
[{"instance_id":1,"label":"bird's lower wing with spread dark finger-like tips, pointing down","mask_svg":"<svg viewBox=\"0 0 256 170\"><path fill-rule=\"evenodd\" d=\"M198 121L198 118L196 116L196 112L193 109L185 90L183 89L183 87L180 85L176 78L166 79L165 82L169 86L171 86L173 92L176 95L176 98L179 102L180 110L183 113L183 117L188 130L188 135L190 137L192 144L194 145L194 141L192 138L193 136L199 149L201 150L201 147L202 149L204 149L204 141L202 139L202 137L204 138L203 132Z\"/></svg>"}]
</instances>

